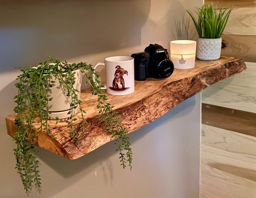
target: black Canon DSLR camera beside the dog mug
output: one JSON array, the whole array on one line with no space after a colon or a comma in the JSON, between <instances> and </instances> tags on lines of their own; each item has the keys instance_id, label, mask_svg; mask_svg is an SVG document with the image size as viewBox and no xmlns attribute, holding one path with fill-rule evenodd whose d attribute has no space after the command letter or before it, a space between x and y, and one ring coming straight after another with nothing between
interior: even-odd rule
<instances>
[{"instance_id":1,"label":"black Canon DSLR camera beside the dog mug","mask_svg":"<svg viewBox=\"0 0 256 198\"><path fill-rule=\"evenodd\" d=\"M150 44L145 52L132 54L134 58L135 80L143 81L146 78L168 78L174 70L173 62L169 59L167 49L161 45Z\"/></svg>"}]
</instances>

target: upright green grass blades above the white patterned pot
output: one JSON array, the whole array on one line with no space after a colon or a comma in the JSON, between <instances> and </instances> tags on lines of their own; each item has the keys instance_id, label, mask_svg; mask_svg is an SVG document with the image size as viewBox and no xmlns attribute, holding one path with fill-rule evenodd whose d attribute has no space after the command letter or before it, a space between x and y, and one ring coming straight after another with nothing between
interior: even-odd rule
<instances>
[{"instance_id":1,"label":"upright green grass blades above the white patterned pot","mask_svg":"<svg viewBox=\"0 0 256 198\"><path fill-rule=\"evenodd\" d=\"M203 4L201 8L195 10L198 20L195 19L191 11L186 10L192 18L199 38L220 38L232 11L231 8L221 8L211 4Z\"/></svg>"}]
</instances>

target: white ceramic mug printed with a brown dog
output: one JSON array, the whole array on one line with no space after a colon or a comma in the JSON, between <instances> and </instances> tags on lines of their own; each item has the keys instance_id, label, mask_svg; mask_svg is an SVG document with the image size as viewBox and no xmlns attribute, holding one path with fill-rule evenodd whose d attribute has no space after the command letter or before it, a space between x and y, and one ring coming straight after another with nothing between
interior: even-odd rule
<instances>
[{"instance_id":1,"label":"white ceramic mug printed with a brown dog","mask_svg":"<svg viewBox=\"0 0 256 198\"><path fill-rule=\"evenodd\" d=\"M128 95L134 92L134 59L130 56L112 56L105 59L105 62L97 63L106 68L106 89L107 93L116 96ZM95 81L95 78L93 79Z\"/></svg>"}]
</instances>

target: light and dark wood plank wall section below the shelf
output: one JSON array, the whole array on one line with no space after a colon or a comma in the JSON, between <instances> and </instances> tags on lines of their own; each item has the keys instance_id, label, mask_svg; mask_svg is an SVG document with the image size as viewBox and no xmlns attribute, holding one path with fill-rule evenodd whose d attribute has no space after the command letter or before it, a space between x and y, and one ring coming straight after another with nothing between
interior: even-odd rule
<instances>
[{"instance_id":1,"label":"light and dark wood plank wall section below the shelf","mask_svg":"<svg viewBox=\"0 0 256 198\"><path fill-rule=\"evenodd\" d=\"M241 133L201 125L201 198L256 197L256 63L246 65L202 92L203 102L233 108L202 104L202 122Z\"/></svg>"}]
</instances>

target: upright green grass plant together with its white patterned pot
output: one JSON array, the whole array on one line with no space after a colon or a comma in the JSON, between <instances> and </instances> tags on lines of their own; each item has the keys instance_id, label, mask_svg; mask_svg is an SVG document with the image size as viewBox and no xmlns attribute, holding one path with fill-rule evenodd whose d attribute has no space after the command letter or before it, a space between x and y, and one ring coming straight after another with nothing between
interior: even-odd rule
<instances>
[{"instance_id":1,"label":"upright green grass plant together with its white patterned pot","mask_svg":"<svg viewBox=\"0 0 256 198\"><path fill-rule=\"evenodd\" d=\"M231 8L221 8L219 5L203 4L197 8L195 19L191 11L186 10L192 18L198 33L197 57L200 60L212 61L219 59L221 55L221 35L232 11Z\"/></svg>"}]
</instances>

